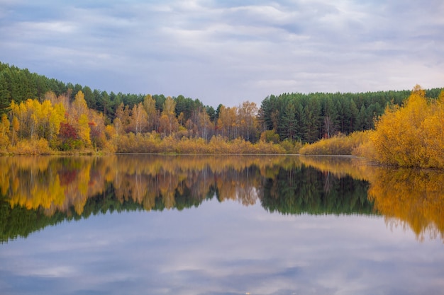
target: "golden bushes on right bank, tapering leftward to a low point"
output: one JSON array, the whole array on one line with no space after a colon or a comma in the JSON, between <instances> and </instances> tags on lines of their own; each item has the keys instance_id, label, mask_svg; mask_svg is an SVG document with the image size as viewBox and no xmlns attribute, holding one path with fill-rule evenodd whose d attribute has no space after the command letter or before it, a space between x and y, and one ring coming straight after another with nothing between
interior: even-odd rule
<instances>
[{"instance_id":1,"label":"golden bushes on right bank, tapering leftward to a low point","mask_svg":"<svg viewBox=\"0 0 444 295\"><path fill-rule=\"evenodd\" d=\"M371 130L307 144L299 154L361 156L387 166L444 168L444 91L416 85L402 105L387 105Z\"/></svg>"}]
</instances>

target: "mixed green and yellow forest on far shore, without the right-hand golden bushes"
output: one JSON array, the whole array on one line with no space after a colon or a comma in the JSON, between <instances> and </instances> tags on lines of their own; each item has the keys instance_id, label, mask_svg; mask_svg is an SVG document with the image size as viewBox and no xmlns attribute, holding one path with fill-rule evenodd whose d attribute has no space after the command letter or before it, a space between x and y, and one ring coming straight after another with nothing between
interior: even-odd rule
<instances>
[{"instance_id":1,"label":"mixed green and yellow forest on far shore, without the right-hand golden bushes","mask_svg":"<svg viewBox=\"0 0 444 295\"><path fill-rule=\"evenodd\" d=\"M436 100L443 88L421 91ZM0 63L0 153L298 154L380 128L384 112L411 93L283 93L214 109L184 96L91 90Z\"/></svg>"}]
</instances>

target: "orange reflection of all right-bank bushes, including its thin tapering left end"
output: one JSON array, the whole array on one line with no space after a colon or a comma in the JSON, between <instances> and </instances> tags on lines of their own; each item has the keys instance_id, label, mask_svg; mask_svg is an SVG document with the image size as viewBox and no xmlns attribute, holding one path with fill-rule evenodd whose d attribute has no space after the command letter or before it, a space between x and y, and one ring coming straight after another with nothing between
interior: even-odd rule
<instances>
[{"instance_id":1,"label":"orange reflection of all right-bank bushes, including its thin tapering left end","mask_svg":"<svg viewBox=\"0 0 444 295\"><path fill-rule=\"evenodd\" d=\"M370 183L368 199L388 226L411 229L419 241L425 236L444 241L444 173L442 170L386 168L365 165L358 158L301 157L305 165Z\"/></svg>"}]
</instances>

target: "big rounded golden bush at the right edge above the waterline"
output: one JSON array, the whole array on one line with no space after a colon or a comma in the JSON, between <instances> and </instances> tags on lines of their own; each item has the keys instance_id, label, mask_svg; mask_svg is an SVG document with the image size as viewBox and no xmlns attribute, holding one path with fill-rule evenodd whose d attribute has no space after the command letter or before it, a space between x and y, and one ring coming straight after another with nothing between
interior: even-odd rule
<instances>
[{"instance_id":1,"label":"big rounded golden bush at the right edge above the waterline","mask_svg":"<svg viewBox=\"0 0 444 295\"><path fill-rule=\"evenodd\" d=\"M416 86L401 108L387 108L370 135L374 159L406 167L444 168L443 95L428 100Z\"/></svg>"}]
</instances>

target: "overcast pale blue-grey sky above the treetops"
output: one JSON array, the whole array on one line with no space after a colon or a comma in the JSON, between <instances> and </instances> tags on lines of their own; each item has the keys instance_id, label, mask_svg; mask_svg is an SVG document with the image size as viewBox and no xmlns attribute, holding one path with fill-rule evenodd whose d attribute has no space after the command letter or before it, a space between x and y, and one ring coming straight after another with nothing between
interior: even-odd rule
<instances>
[{"instance_id":1,"label":"overcast pale blue-grey sky above the treetops","mask_svg":"<svg viewBox=\"0 0 444 295\"><path fill-rule=\"evenodd\" d=\"M442 0L0 0L0 62L114 93L260 105L444 86Z\"/></svg>"}]
</instances>

